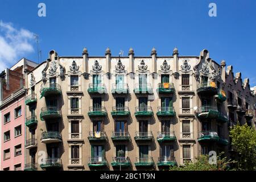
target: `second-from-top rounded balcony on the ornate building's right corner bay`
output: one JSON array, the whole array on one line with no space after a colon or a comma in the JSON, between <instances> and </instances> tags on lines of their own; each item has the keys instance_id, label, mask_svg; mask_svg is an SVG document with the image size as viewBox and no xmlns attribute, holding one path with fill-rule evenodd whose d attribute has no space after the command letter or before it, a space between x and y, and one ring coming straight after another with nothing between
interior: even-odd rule
<instances>
[{"instance_id":1,"label":"second-from-top rounded balcony on the ornate building's right corner bay","mask_svg":"<svg viewBox=\"0 0 256 182\"><path fill-rule=\"evenodd\" d=\"M216 119L218 117L218 109L216 106L205 105L199 108L197 117L202 119Z\"/></svg>"}]
</instances>

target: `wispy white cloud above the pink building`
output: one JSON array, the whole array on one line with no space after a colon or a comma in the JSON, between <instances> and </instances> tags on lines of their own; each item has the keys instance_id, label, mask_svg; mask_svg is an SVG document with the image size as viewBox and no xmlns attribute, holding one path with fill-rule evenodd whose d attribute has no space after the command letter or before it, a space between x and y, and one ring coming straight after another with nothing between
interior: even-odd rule
<instances>
[{"instance_id":1,"label":"wispy white cloud above the pink building","mask_svg":"<svg viewBox=\"0 0 256 182\"><path fill-rule=\"evenodd\" d=\"M0 72L34 52L34 34L24 28L0 20Z\"/></svg>"}]
</instances>

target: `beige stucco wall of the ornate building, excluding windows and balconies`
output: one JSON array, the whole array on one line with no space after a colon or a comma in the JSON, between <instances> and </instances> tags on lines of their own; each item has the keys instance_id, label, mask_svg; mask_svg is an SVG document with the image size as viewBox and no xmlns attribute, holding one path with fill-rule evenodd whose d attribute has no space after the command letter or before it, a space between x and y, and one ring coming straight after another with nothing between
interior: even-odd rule
<instances>
[{"instance_id":1,"label":"beige stucco wall of the ornate building, excluding windows and balconies","mask_svg":"<svg viewBox=\"0 0 256 182\"><path fill-rule=\"evenodd\" d=\"M97 65L97 62L98 65ZM120 64L120 61L121 64ZM75 61L75 62L74 62ZM144 62L144 63L143 63ZM73 66L72 67L72 63ZM119 65L119 67L117 67ZM44 77L44 73L46 77ZM111 73L111 74L108 74ZM124 75L124 83L129 85L128 94L113 94L113 84L115 84L116 75ZM147 84L152 87L153 93L134 93L134 88L139 83L139 75L147 75ZM188 75L189 84L182 84L182 75ZM78 85L76 88L71 86L71 76L78 76ZM101 83L105 84L107 93L88 93L89 84L93 83L93 75L101 75ZM174 84L174 93L158 93L158 84L161 83L161 75L169 75L169 82ZM217 102L216 95L199 94L199 85L202 82L202 76L208 77L212 82L218 83L219 88L225 91L226 101ZM47 97L42 96L42 85L49 82L51 77L56 77L56 83L60 85L61 94L49 94ZM231 92L234 98L240 97L243 105L246 106L245 110L253 110L255 104L255 96L250 91L249 79L241 80L241 73L232 72L232 66L226 67L225 61L217 64L210 59L209 52L203 50L200 56L179 56L177 49L174 49L172 56L158 56L156 50L152 49L151 56L134 56L133 49L129 50L129 56L113 57L110 49L106 49L105 56L89 56L87 49L84 49L82 56L64 57L58 56L55 51L49 52L49 59L44 61L31 72L27 73L26 79L27 96L34 87L37 101L34 104L27 106L27 117L31 116L31 107L35 107L35 115L37 125L34 127L26 127L26 140L32 138L32 130L35 130L34 138L36 142L31 146L27 146L26 150L26 163L38 163L36 169L53 169L52 167L40 166L40 159L47 155L47 148L55 146L57 149L55 158L61 159L61 165L55 169L63 170L90 170L90 169L105 169L113 170L119 169L113 167L113 157L116 155L117 144L125 145L125 156L130 158L131 166L122 167L122 170L136 170L136 169L162 169L168 168L167 166L160 166L159 155L160 146L172 146L174 151L174 158L177 165L183 164L184 151L183 147L190 146L190 160L195 160L196 156L202 153L202 146L210 146L209 151L225 151L229 156L229 146L221 145L218 142L199 142L199 133L202 131L202 122L207 121L210 123L209 128L212 131L219 130L221 133L219 137L229 140L228 126L232 122L218 122L217 118L204 119L200 116L200 108L202 100L207 99L214 108L222 111L226 115L226 119L230 121L229 113L233 112L233 122L237 122L236 108L229 105L228 93ZM207 85L208 86L208 85ZM237 95L238 93L238 95ZM76 110L71 109L71 99L78 98L79 106ZM89 117L89 106L93 106L93 98L101 97L101 106L106 108L107 115L101 117ZM125 106L129 107L130 114L125 117L113 117L112 107L115 106L115 98L124 97ZM139 98L147 97L147 106L152 107L154 115L152 116L135 116L135 107L139 106ZM175 115L172 116L159 116L158 107L161 106L161 97L171 97ZM183 108L183 98L189 98L189 107ZM46 107L46 100L57 100L57 108L60 109L61 117L57 119L44 119L40 118L42 107ZM247 103L247 104L246 104ZM218 107L217 107L218 106ZM232 107L232 108L231 108ZM231 109L230 109L231 108ZM201 111L202 114L202 111ZM203 113L204 114L204 113ZM242 115L241 123L245 123L245 114ZM152 131L152 140L135 140L135 134L139 131L139 121L147 121L147 130ZM71 123L72 121L79 122L79 135L75 139L72 138ZM93 121L102 121L102 131L105 131L106 140L90 140L88 139L89 133L93 131ZM115 122L127 122L127 131L130 134L130 140L127 141L114 141L112 133L115 131ZM162 121L170 121L170 131L174 131L176 139L167 140L167 142L159 142L159 137L163 137L158 133L162 130ZM183 121L189 122L189 132L183 132ZM254 116L250 120L250 125L255 127L255 110ZM61 134L60 140L49 139L48 142L42 142L42 133L48 131L47 125L50 122L59 123L58 130ZM47 144L46 144L47 143ZM72 146L79 146L78 160L72 159ZM104 146L104 157L106 159L106 166L88 165L89 158L92 157L91 146ZM139 146L148 146L148 157L152 157L153 165L136 165L137 158L139 157ZM34 152L34 154L33 154ZM52 152L48 152L51 153ZM35 159L31 159L31 155ZM47 157L49 158L49 156ZM51 162L52 163L52 162ZM27 167L31 167L28 165Z\"/></svg>"}]
</instances>

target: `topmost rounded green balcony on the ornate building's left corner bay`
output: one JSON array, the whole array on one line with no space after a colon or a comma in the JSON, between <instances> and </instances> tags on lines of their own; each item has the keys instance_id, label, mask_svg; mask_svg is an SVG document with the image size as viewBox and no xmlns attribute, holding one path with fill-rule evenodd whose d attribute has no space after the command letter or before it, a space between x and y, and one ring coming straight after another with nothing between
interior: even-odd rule
<instances>
[{"instance_id":1,"label":"topmost rounded green balcony on the ornate building's left corner bay","mask_svg":"<svg viewBox=\"0 0 256 182\"><path fill-rule=\"evenodd\" d=\"M41 85L40 89L41 98L48 96L59 96L61 95L61 86L59 84L46 83Z\"/></svg>"}]
</instances>

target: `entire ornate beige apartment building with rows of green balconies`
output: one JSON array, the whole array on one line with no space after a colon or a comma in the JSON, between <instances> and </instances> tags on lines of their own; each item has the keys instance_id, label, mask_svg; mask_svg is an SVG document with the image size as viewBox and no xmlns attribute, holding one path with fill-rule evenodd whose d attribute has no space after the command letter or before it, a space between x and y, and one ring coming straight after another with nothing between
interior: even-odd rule
<instances>
[{"instance_id":1,"label":"entire ornate beige apartment building with rows of green balconies","mask_svg":"<svg viewBox=\"0 0 256 182\"><path fill-rule=\"evenodd\" d=\"M209 151L232 154L228 126L255 127L249 79L207 50L50 51L26 80L26 170L168 169Z\"/></svg>"}]
</instances>

